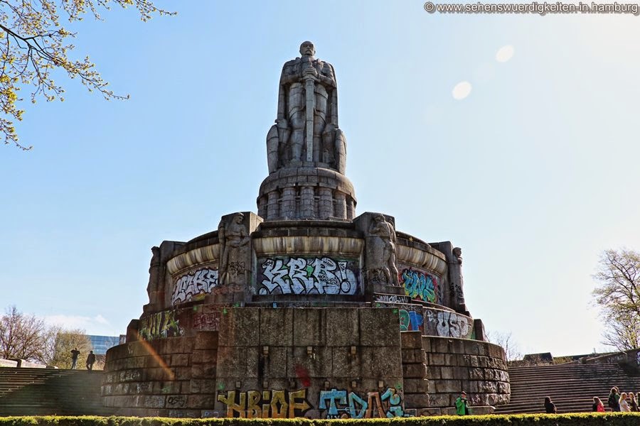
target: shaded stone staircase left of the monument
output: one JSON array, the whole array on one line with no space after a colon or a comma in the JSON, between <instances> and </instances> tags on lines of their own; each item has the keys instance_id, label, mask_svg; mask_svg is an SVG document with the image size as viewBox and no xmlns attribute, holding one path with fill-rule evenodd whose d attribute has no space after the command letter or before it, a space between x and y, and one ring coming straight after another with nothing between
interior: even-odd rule
<instances>
[{"instance_id":1,"label":"shaded stone staircase left of the monument","mask_svg":"<svg viewBox=\"0 0 640 426\"><path fill-rule=\"evenodd\" d=\"M0 368L0 416L112 415L101 383L102 371Z\"/></svg>"}]
</instances>

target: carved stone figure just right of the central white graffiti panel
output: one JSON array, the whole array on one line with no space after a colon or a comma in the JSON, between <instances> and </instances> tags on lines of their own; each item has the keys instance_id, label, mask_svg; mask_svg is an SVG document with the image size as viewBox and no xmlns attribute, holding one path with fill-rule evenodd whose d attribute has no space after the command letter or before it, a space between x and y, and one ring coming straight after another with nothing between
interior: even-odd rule
<instances>
[{"instance_id":1,"label":"carved stone figure just right of the central white graffiti panel","mask_svg":"<svg viewBox=\"0 0 640 426\"><path fill-rule=\"evenodd\" d=\"M395 229L382 214L376 214L371 222L366 245L367 278L371 283L398 284L398 268L395 266Z\"/></svg>"}]
</instances>

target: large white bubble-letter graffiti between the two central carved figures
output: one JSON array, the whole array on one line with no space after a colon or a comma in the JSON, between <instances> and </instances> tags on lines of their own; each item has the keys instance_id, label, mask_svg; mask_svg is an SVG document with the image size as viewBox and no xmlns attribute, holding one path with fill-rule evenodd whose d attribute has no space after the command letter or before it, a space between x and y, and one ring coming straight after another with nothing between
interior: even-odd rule
<instances>
[{"instance_id":1,"label":"large white bubble-letter graffiti between the two central carved figures","mask_svg":"<svg viewBox=\"0 0 640 426\"><path fill-rule=\"evenodd\" d=\"M259 295L355 295L358 268L353 261L332 258L266 258L260 260Z\"/></svg>"}]
</instances>

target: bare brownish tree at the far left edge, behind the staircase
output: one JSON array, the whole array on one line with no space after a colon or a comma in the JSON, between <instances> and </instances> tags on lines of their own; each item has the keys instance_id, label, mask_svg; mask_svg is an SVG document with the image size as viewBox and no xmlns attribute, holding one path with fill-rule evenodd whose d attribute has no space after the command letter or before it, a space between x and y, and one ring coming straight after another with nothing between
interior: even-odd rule
<instances>
[{"instance_id":1,"label":"bare brownish tree at the far left edge, behind the staircase","mask_svg":"<svg viewBox=\"0 0 640 426\"><path fill-rule=\"evenodd\" d=\"M46 326L43 320L6 308L0 319L0 358L40 361L45 346Z\"/></svg>"}]
</instances>

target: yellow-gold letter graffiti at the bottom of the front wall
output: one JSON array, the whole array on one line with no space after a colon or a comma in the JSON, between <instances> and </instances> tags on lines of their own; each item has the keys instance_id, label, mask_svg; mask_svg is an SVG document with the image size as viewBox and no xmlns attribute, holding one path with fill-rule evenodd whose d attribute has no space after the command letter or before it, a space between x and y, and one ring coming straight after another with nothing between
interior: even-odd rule
<instances>
[{"instance_id":1,"label":"yellow-gold letter graffiti at the bottom of the front wall","mask_svg":"<svg viewBox=\"0 0 640 426\"><path fill-rule=\"evenodd\" d=\"M298 391L228 391L218 395L226 417L284 419L302 417L311 405L306 389Z\"/></svg>"}]
</instances>

